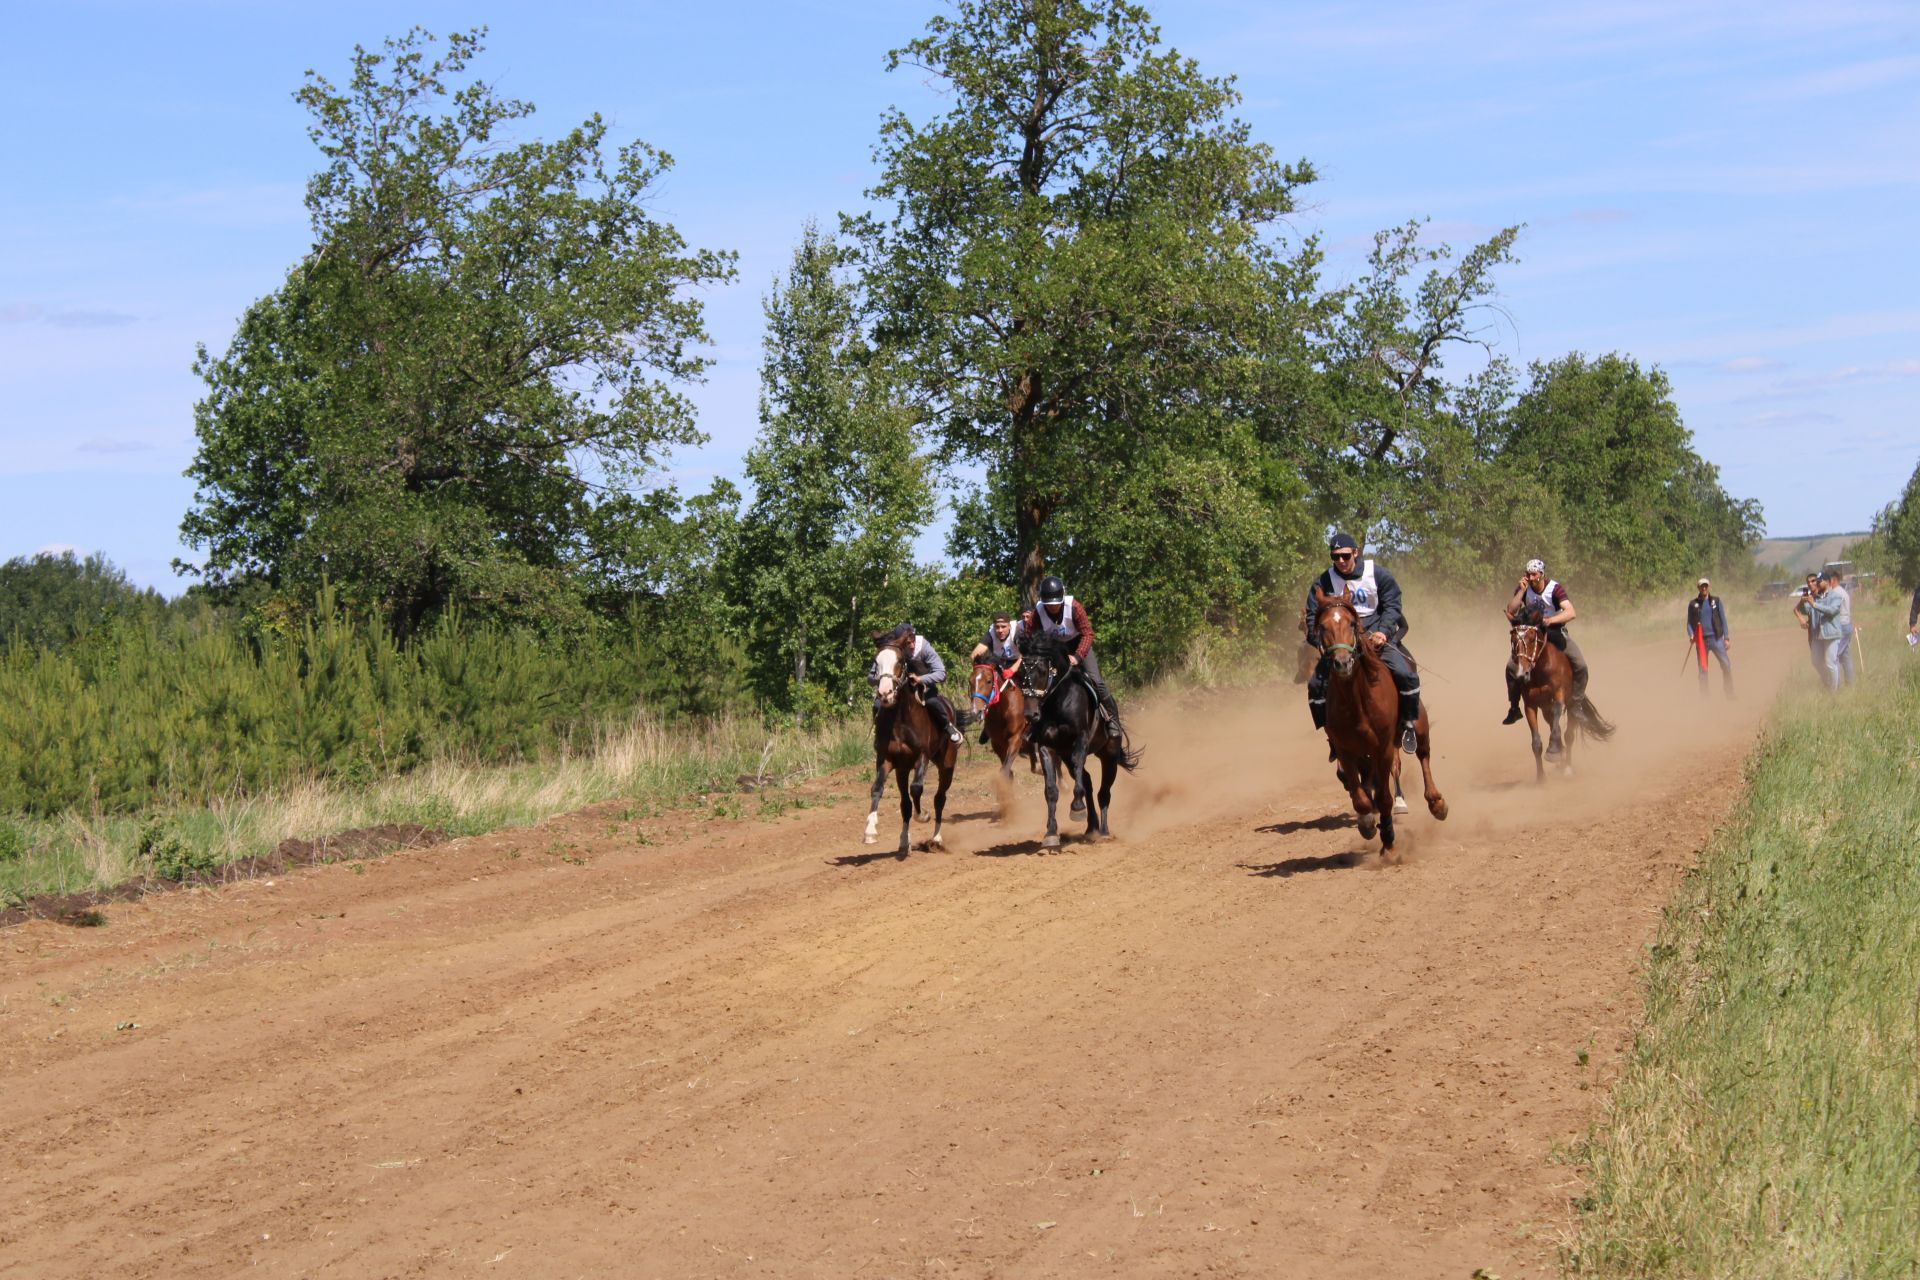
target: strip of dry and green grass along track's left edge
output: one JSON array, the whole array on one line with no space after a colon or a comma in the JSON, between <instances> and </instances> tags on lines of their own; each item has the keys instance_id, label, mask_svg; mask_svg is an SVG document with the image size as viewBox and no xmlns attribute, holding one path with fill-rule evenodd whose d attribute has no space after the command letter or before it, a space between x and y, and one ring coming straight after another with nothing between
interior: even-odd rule
<instances>
[{"instance_id":1,"label":"strip of dry and green grass along track's left edge","mask_svg":"<svg viewBox=\"0 0 1920 1280\"><path fill-rule=\"evenodd\" d=\"M13 816L0 821L0 906L169 869L156 862L171 862L173 871L213 869L263 856L290 837L380 823L476 835L603 800L664 806L737 793L743 775L783 785L856 764L870 750L872 729L860 718L803 733L770 731L751 718L664 723L641 716L603 729L584 748L520 764L445 756L365 787L309 779L140 816Z\"/></svg>"}]
</instances>

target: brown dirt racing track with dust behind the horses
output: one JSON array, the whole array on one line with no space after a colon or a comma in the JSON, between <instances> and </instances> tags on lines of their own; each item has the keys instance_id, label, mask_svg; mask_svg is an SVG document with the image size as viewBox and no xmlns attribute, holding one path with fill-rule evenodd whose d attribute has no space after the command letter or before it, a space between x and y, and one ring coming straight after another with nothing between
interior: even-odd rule
<instances>
[{"instance_id":1,"label":"brown dirt racing track with dust behind the horses","mask_svg":"<svg viewBox=\"0 0 1920 1280\"><path fill-rule=\"evenodd\" d=\"M0 1272L1551 1274L1553 1148L1801 649L1728 706L1590 639L1620 733L1536 789L1475 645L1421 652L1453 818L1402 867L1277 687L1142 714L1121 839L1060 854L975 752L906 862L843 775L6 931Z\"/></svg>"}]
</instances>

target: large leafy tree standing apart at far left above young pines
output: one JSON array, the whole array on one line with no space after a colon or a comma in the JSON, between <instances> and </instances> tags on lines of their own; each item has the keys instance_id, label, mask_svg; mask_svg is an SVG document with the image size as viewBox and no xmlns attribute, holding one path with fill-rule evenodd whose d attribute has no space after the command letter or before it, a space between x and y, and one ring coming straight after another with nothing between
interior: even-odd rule
<instances>
[{"instance_id":1,"label":"large leafy tree standing apart at far left above young pines","mask_svg":"<svg viewBox=\"0 0 1920 1280\"><path fill-rule=\"evenodd\" d=\"M532 106L468 75L480 35L417 29L296 94L313 251L196 365L182 568L209 583L330 578L401 633L451 606L566 624L645 553L636 491L699 439L691 288L732 263L647 215L670 159L609 154L597 115L515 140Z\"/></svg>"}]
</instances>

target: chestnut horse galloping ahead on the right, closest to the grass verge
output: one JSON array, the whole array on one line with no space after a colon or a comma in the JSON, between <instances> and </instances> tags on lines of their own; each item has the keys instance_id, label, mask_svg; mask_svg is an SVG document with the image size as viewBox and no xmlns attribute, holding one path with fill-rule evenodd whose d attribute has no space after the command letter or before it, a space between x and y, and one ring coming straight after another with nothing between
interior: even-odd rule
<instances>
[{"instance_id":1,"label":"chestnut horse galloping ahead on the right, closest to the grass verge","mask_svg":"<svg viewBox=\"0 0 1920 1280\"><path fill-rule=\"evenodd\" d=\"M1394 794L1400 789L1400 691L1394 674L1369 639L1361 639L1359 614L1344 595L1315 587L1321 649L1332 654L1327 674L1327 743L1332 747L1334 777L1354 798L1359 839L1380 831L1380 854L1394 862ZM1427 812L1446 821L1446 796L1434 785L1432 745L1427 733L1427 706L1413 722L1415 752L1427 783Z\"/></svg>"}]
</instances>

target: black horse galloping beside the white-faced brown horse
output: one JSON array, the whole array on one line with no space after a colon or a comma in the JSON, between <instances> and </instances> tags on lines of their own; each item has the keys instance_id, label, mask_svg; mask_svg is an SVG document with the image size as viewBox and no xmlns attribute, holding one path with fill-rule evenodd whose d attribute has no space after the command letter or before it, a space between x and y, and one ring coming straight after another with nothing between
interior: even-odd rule
<instances>
[{"instance_id":1,"label":"black horse galloping beside the white-faced brown horse","mask_svg":"<svg viewBox=\"0 0 1920 1280\"><path fill-rule=\"evenodd\" d=\"M1060 779L1054 773L1054 758L1066 764L1068 777L1073 779L1073 796L1085 798L1087 835L1096 841L1112 839L1108 814L1114 798L1114 771L1139 768L1140 752L1108 727L1092 687L1068 662L1060 641L1029 633L1021 637L1020 652L1020 683L1031 702L1027 741L1039 752L1041 777L1046 783L1046 837L1041 839L1041 848L1060 848L1060 823L1056 819ZM1100 760L1098 794L1087 777L1089 754Z\"/></svg>"}]
</instances>

